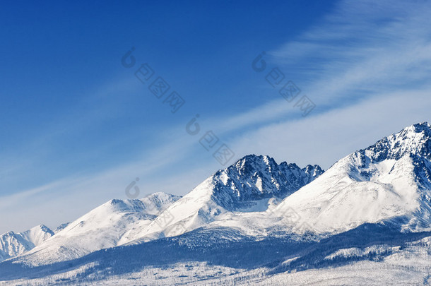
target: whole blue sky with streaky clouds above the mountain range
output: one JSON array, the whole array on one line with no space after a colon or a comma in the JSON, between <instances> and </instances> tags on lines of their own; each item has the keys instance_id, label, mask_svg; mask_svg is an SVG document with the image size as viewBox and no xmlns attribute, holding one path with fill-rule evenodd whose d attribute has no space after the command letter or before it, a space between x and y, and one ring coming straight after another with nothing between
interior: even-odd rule
<instances>
[{"instance_id":1,"label":"whole blue sky with streaky clouds above the mountain range","mask_svg":"<svg viewBox=\"0 0 431 286\"><path fill-rule=\"evenodd\" d=\"M431 121L430 12L428 1L3 4L0 233L75 220L126 198L136 177L141 196L184 195L223 168L199 144L206 131L230 163L255 153L327 169ZM134 76L144 63L184 98L175 114ZM314 102L307 117L268 84L272 68Z\"/></svg>"}]
</instances>

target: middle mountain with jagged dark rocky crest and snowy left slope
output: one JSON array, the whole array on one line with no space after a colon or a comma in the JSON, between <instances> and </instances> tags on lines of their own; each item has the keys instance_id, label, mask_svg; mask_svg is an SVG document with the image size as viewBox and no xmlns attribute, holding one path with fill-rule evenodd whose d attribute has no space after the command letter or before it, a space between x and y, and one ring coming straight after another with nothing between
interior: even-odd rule
<instances>
[{"instance_id":1,"label":"middle mountain with jagged dark rocky crest and snowy left slope","mask_svg":"<svg viewBox=\"0 0 431 286\"><path fill-rule=\"evenodd\" d=\"M144 241L172 237L207 225L226 213L266 210L269 198L285 198L323 172L317 165L301 169L286 162L278 165L268 156L247 155L208 177L136 237Z\"/></svg>"}]
</instances>

